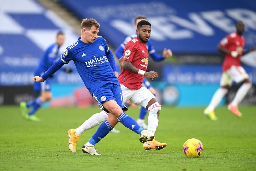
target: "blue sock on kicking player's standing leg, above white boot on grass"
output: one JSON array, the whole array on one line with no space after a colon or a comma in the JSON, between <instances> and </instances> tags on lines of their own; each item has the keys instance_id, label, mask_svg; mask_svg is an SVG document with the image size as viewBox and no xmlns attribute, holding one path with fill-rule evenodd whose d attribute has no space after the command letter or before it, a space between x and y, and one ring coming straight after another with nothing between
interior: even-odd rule
<instances>
[{"instance_id":1,"label":"blue sock on kicking player's standing leg, above white boot on grass","mask_svg":"<svg viewBox=\"0 0 256 171\"><path fill-rule=\"evenodd\" d=\"M92 138L89 139L89 143L92 145L97 144L102 138L104 138L109 131L111 131L113 128L109 124L108 120L105 120L102 124L100 124L97 131L94 133Z\"/></svg>"}]
</instances>

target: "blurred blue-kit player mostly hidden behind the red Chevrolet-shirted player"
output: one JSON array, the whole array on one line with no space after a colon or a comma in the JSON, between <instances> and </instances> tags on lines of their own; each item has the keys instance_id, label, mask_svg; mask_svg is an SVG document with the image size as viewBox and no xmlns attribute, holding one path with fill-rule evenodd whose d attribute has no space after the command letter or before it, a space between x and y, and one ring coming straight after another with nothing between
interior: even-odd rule
<instances>
[{"instance_id":1,"label":"blurred blue-kit player mostly hidden behind the red Chevrolet-shirted player","mask_svg":"<svg viewBox=\"0 0 256 171\"><path fill-rule=\"evenodd\" d=\"M146 16L144 15L138 15L135 19L134 19L134 28L137 29L137 24L138 22L140 22L141 20L147 20ZM115 54L116 57L118 59L122 58L123 54L124 54L124 47L126 45L126 43L128 43L131 39L133 39L133 37L136 37L137 34L134 33L128 37L126 37L126 39L124 40L124 42L116 49ZM172 51L170 49L164 49L163 51L163 55L158 55L153 47L153 44L151 42L150 39L148 39L147 42L147 49L148 49L148 53L150 54L150 56L152 57L152 59L154 61L162 61L165 58L169 58L172 56ZM150 92L156 96L156 90L151 86L150 82L148 82L148 80L146 78L143 79L143 86L146 87L147 89L150 90ZM145 116L147 115L148 110L145 109L144 107L140 108L140 114L139 114L139 118L137 119L137 123L144 129L147 129L148 126L145 123Z\"/></svg>"}]
</instances>

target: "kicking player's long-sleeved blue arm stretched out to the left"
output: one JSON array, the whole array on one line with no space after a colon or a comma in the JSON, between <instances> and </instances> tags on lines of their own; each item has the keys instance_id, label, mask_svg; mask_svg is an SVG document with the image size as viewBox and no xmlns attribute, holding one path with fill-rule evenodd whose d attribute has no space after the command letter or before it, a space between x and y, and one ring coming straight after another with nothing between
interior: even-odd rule
<instances>
[{"instance_id":1,"label":"kicking player's long-sleeved blue arm stretched out to the left","mask_svg":"<svg viewBox=\"0 0 256 171\"><path fill-rule=\"evenodd\" d=\"M60 56L60 59L57 60L52 64L52 66L41 76L35 76L33 77L33 81L35 82L44 82L48 77L50 77L52 74L54 74L56 71L58 71L61 66L64 64L68 64L70 60L72 60L72 54L71 52L67 49L65 49L64 53Z\"/></svg>"}]
</instances>

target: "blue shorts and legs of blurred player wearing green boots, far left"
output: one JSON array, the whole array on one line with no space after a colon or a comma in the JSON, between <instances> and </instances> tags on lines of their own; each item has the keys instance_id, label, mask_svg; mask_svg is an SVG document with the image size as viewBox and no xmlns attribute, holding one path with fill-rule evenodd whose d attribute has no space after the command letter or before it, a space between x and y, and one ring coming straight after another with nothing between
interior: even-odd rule
<instances>
[{"instance_id":1,"label":"blue shorts and legs of blurred player wearing green boots, far left","mask_svg":"<svg viewBox=\"0 0 256 171\"><path fill-rule=\"evenodd\" d=\"M41 72L35 71L36 75L40 75ZM29 102L21 102L20 108L22 116L27 120L32 121L40 121L38 117L35 116L36 111L41 107L44 102L50 101L52 99L52 92L50 88L49 80L45 80L44 82L34 82L34 91L36 93L41 92L40 96L29 101ZM30 111L28 109L31 107Z\"/></svg>"}]
</instances>

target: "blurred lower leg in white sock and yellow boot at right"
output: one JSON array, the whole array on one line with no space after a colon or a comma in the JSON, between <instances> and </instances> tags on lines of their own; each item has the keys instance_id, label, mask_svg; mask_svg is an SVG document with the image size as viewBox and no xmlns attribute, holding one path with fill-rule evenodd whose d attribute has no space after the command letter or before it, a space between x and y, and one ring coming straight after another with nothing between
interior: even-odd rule
<instances>
[{"instance_id":1,"label":"blurred lower leg in white sock and yellow boot at right","mask_svg":"<svg viewBox=\"0 0 256 171\"><path fill-rule=\"evenodd\" d=\"M204 114L210 120L217 120L218 118L215 116L214 109L219 105L221 99L228 93L228 89L224 87L220 87L213 95L212 100L208 107L204 109Z\"/></svg>"}]
</instances>

